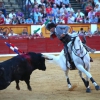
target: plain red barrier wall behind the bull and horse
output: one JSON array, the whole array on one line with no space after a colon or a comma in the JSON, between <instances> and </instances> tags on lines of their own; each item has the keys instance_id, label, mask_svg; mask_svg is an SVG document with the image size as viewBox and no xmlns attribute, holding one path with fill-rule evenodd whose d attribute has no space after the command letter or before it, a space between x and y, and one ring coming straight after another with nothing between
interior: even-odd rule
<instances>
[{"instance_id":1,"label":"plain red barrier wall behind the bull and horse","mask_svg":"<svg viewBox=\"0 0 100 100\"><path fill-rule=\"evenodd\" d=\"M0 39L0 54L13 54L4 42L13 43L24 52L60 52L63 44L56 38L37 38L37 39ZM87 37L87 45L100 51L100 36Z\"/></svg>"}]
</instances>

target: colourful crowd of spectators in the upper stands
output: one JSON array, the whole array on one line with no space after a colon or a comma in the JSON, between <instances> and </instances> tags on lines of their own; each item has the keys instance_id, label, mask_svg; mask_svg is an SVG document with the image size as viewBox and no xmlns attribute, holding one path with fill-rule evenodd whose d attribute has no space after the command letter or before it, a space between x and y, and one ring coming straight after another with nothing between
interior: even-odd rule
<instances>
[{"instance_id":1,"label":"colourful crowd of spectators in the upper stands","mask_svg":"<svg viewBox=\"0 0 100 100\"><path fill-rule=\"evenodd\" d=\"M100 23L100 0L76 0L82 11L75 11L70 0L25 0L23 12L29 11L28 18L19 10L6 14L4 3L0 3L0 25L43 24L47 19L56 24ZM29 2L30 1L30 2Z\"/></svg>"}]
</instances>

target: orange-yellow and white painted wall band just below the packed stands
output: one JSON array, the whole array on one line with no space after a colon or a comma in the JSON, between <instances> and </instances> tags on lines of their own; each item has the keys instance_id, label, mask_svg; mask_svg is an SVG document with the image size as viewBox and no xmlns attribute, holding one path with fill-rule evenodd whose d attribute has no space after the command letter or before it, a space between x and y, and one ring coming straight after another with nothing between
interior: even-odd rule
<instances>
[{"instance_id":1,"label":"orange-yellow and white painted wall band just below the packed stands","mask_svg":"<svg viewBox=\"0 0 100 100\"><path fill-rule=\"evenodd\" d=\"M67 24L70 26L70 30L69 32L72 32L73 30L74 31L79 31L80 28L83 28L85 31L87 31L88 29L94 29L96 27L99 27L100 28L100 24ZM91 27L91 25L93 27ZM97 25L97 26L96 26ZM33 26L33 27L32 27ZM17 33L17 34L21 34L22 33L22 30L24 28L27 29L28 33L29 34L33 34L33 30L36 30L38 29L40 25L30 25L30 24L19 24L19 25L2 25L0 26L0 29L2 28L3 30L7 31L7 33L10 32L10 30L12 29L14 31L14 33ZM96 27L95 27L96 26ZM33 28L33 29L32 29ZM49 31L46 30L45 27L43 27L41 29L41 32L43 33L43 36L44 37L49 37Z\"/></svg>"}]
</instances>

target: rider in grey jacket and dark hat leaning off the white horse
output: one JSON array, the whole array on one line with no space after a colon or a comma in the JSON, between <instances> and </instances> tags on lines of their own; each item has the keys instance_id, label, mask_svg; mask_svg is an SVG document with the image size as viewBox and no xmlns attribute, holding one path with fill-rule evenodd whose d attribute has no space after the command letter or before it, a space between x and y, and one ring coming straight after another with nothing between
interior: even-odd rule
<instances>
[{"instance_id":1,"label":"rider in grey jacket and dark hat leaning off the white horse","mask_svg":"<svg viewBox=\"0 0 100 100\"><path fill-rule=\"evenodd\" d=\"M57 37L64 44L64 54L66 58L66 66L73 69L71 66L71 57L69 56L67 44L71 41L71 34L68 33L70 27L68 25L56 25L54 23L48 23L46 29L50 31L50 38ZM93 49L91 49L93 51ZM89 50L91 52L91 50ZM95 52L95 51L94 51ZM70 62L70 63L69 63Z\"/></svg>"}]
</instances>

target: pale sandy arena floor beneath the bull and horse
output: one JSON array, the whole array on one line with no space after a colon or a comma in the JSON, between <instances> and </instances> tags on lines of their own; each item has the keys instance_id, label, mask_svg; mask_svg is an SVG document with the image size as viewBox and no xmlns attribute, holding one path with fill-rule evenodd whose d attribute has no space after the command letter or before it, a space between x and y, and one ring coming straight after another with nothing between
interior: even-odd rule
<instances>
[{"instance_id":1,"label":"pale sandy arena floor beneath the bull and horse","mask_svg":"<svg viewBox=\"0 0 100 100\"><path fill-rule=\"evenodd\" d=\"M35 70L31 75L32 91L27 90L25 82L20 82L20 90L16 90L15 82L0 91L0 100L100 100L100 90L96 91L90 82L91 93L86 93L78 71L70 71L72 85L77 85L73 91L68 91L64 72L56 64L46 62L47 70ZM100 58L91 63L91 74L100 85Z\"/></svg>"}]
</instances>

